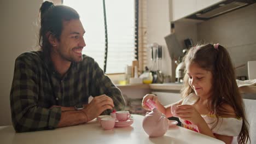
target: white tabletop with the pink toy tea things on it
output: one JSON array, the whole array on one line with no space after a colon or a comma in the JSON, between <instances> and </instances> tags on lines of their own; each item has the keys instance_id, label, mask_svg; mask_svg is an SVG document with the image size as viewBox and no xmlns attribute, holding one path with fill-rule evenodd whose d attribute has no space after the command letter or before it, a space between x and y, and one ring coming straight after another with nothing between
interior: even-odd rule
<instances>
[{"instance_id":1,"label":"white tabletop with the pink toy tea things on it","mask_svg":"<svg viewBox=\"0 0 256 144\"><path fill-rule=\"evenodd\" d=\"M13 127L0 127L0 143L224 143L194 131L173 126L164 136L149 137L142 128L143 116L132 115L134 123L130 127L103 130L94 120L83 125L54 130L15 133Z\"/></svg>"}]
</instances>

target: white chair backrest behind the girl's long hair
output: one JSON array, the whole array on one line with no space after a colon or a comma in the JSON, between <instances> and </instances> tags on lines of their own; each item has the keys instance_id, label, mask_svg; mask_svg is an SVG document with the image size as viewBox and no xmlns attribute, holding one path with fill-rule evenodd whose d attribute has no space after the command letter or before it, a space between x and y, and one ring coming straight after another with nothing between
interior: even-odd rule
<instances>
[{"instance_id":1,"label":"white chair backrest behind the girl's long hair","mask_svg":"<svg viewBox=\"0 0 256 144\"><path fill-rule=\"evenodd\" d=\"M256 143L256 100L243 99L243 103L245 103L245 111L247 121L249 123L251 143Z\"/></svg>"}]
</instances>

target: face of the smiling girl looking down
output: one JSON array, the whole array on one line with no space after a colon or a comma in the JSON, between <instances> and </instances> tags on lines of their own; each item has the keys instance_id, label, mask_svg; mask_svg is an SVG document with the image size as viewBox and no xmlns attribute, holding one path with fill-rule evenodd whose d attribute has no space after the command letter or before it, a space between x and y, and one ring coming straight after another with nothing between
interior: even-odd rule
<instances>
[{"instance_id":1,"label":"face of the smiling girl looking down","mask_svg":"<svg viewBox=\"0 0 256 144\"><path fill-rule=\"evenodd\" d=\"M196 95L208 98L212 88L212 73L202 69L197 64L187 65L189 85L194 89Z\"/></svg>"}]
</instances>

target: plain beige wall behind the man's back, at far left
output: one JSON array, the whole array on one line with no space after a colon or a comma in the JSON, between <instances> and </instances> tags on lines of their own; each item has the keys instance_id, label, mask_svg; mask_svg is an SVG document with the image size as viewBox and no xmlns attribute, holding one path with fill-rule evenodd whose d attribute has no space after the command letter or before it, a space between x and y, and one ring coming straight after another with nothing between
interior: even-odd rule
<instances>
[{"instance_id":1,"label":"plain beige wall behind the man's back, at far left","mask_svg":"<svg viewBox=\"0 0 256 144\"><path fill-rule=\"evenodd\" d=\"M43 1L0 1L0 125L11 124L10 87L15 58L37 49L38 11Z\"/></svg>"}]
</instances>

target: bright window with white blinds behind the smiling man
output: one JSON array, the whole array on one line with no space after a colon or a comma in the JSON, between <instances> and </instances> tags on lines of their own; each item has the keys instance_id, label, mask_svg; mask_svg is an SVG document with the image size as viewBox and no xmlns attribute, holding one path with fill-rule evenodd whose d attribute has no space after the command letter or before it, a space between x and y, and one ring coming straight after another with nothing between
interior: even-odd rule
<instances>
[{"instance_id":1,"label":"bright window with white blinds behind the smiling man","mask_svg":"<svg viewBox=\"0 0 256 144\"><path fill-rule=\"evenodd\" d=\"M107 34L106 74L124 73L135 60L135 0L106 0L106 28L103 0L65 0L74 8L85 29L83 54L95 59L104 69ZM105 33L107 30L107 33Z\"/></svg>"}]
</instances>

